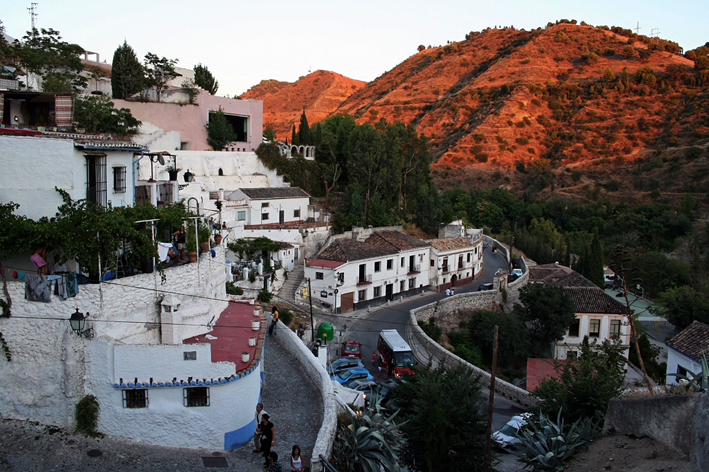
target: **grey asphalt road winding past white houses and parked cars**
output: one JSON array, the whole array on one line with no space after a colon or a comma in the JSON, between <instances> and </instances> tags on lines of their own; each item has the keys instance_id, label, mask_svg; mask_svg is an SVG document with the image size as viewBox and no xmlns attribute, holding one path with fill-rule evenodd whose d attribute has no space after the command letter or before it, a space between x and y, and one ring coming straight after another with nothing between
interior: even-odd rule
<instances>
[{"instance_id":1,"label":"grey asphalt road winding past white houses and parked cars","mask_svg":"<svg viewBox=\"0 0 709 472\"><path fill-rule=\"evenodd\" d=\"M483 255L483 270L474 282L455 287L456 293L474 292L477 291L480 284L491 283L493 276L498 269L506 269L505 260L499 254L493 254L489 248L485 248ZM377 372L372 369L371 355L376 349L377 338L379 331L382 329L395 328L399 334L406 339L406 322L409 318L409 312L414 308L418 308L436 300L445 298L445 293L435 293L425 296L414 296L409 301L393 307L384 307L368 316L352 322L348 327L345 336L347 339L356 340L362 343L362 362L376 377ZM348 323L349 324L349 323ZM484 390L484 401L487 404L489 391ZM501 428L512 416L523 412L517 404L496 395L495 407L493 411L493 431Z\"/></svg>"}]
</instances>

